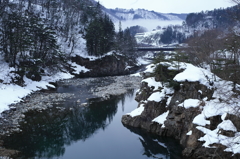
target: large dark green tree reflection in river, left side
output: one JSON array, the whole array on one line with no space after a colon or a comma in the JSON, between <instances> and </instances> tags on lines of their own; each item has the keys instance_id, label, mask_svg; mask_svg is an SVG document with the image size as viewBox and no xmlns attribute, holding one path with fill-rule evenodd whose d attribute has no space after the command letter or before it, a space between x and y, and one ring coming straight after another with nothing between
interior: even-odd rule
<instances>
[{"instance_id":1,"label":"large dark green tree reflection in river, left side","mask_svg":"<svg viewBox=\"0 0 240 159\"><path fill-rule=\"evenodd\" d=\"M24 133L6 138L5 146L21 151L23 158L62 156L65 144L84 141L96 130L105 129L117 113L118 103L124 100L122 97L93 102L89 107L26 114L27 124L21 126Z\"/></svg>"}]
</instances>

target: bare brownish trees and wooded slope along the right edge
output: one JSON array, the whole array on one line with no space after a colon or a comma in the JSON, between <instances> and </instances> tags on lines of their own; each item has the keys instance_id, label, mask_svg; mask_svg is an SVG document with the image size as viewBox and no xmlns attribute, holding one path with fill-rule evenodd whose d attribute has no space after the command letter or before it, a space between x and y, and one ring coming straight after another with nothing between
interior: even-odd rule
<instances>
[{"instance_id":1,"label":"bare brownish trees and wooded slope along the right edge","mask_svg":"<svg viewBox=\"0 0 240 159\"><path fill-rule=\"evenodd\" d=\"M198 22L209 15L213 21L216 21L216 27L195 30L186 40L189 48L183 50L191 63L199 67L208 65L214 74L224 80L232 81L234 91L237 91L237 84L240 84L239 13L239 5L237 5L206 13L189 14L186 19L188 27L201 25L202 23Z\"/></svg>"}]
</instances>

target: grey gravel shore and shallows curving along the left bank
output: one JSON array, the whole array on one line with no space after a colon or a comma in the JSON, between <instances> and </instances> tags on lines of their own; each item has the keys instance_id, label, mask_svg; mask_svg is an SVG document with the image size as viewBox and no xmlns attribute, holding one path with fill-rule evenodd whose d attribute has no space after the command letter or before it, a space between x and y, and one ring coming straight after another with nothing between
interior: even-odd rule
<instances>
[{"instance_id":1,"label":"grey gravel shore and shallows curving along the left bank","mask_svg":"<svg viewBox=\"0 0 240 159\"><path fill-rule=\"evenodd\" d=\"M126 93L131 89L140 88L142 78L134 76L113 76L99 78L76 78L57 82L55 91L39 91L28 95L22 102L10 105L10 109L4 111L0 118L0 158L9 156L14 150L6 150L1 147L1 138L13 133L21 133L20 123L25 122L27 113L34 111L41 113L50 109L64 111L61 103L75 102L78 106L87 106L88 100L100 98L107 100L111 96Z\"/></svg>"}]
</instances>

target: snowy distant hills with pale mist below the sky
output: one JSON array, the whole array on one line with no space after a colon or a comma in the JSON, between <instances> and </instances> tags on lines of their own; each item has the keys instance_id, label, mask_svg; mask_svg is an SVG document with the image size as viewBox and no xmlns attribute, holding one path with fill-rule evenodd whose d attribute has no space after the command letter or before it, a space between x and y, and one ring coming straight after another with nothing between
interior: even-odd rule
<instances>
[{"instance_id":1,"label":"snowy distant hills with pale mist below the sky","mask_svg":"<svg viewBox=\"0 0 240 159\"><path fill-rule=\"evenodd\" d=\"M187 14L166 14L145 9L107 9L103 6L102 10L113 20L116 29L118 29L119 21L121 21L123 29L139 25L151 31L157 26L181 25L187 17Z\"/></svg>"}]
</instances>

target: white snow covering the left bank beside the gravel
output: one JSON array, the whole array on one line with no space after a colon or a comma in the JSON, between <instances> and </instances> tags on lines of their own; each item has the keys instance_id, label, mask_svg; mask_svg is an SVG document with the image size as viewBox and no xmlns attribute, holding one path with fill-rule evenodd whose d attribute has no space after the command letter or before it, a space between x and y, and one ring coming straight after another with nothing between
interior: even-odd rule
<instances>
[{"instance_id":1,"label":"white snow covering the left bank beside the gravel","mask_svg":"<svg viewBox=\"0 0 240 159\"><path fill-rule=\"evenodd\" d=\"M8 64L3 61L0 63L0 68L0 77L3 80L3 83L0 83L0 113L5 110L9 110L10 104L20 102L23 97L34 91L47 89L47 86L54 87L53 85L49 84L49 82L55 82L60 79L68 79L73 77L69 73L60 72L52 76L43 76L42 80L39 82L32 81L27 77L24 77L25 86L20 87L16 84L10 83L11 77L14 76L11 71L13 71L14 68L8 67Z\"/></svg>"}]
</instances>

